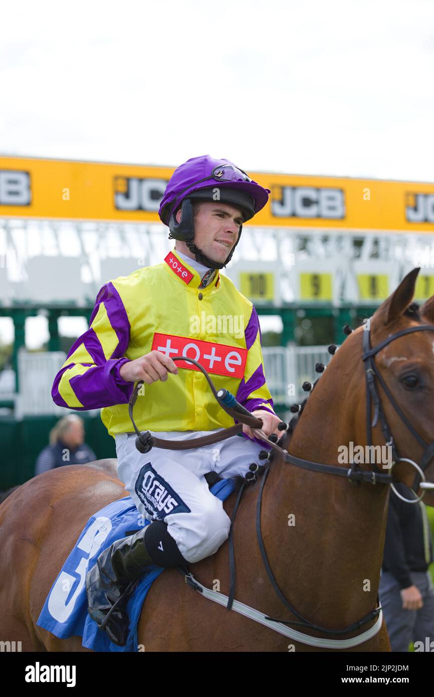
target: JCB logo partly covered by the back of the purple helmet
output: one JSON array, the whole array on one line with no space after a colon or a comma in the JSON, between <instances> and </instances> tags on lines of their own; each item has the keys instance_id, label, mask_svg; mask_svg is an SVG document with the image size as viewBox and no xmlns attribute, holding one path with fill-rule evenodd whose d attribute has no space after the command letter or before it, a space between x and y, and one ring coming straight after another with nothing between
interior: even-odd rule
<instances>
[{"instance_id":1,"label":"JCB logo partly covered by the back of the purple helmet","mask_svg":"<svg viewBox=\"0 0 434 697\"><path fill-rule=\"evenodd\" d=\"M114 206L117 210L157 211L166 189L166 179L114 178Z\"/></svg>"}]
</instances>

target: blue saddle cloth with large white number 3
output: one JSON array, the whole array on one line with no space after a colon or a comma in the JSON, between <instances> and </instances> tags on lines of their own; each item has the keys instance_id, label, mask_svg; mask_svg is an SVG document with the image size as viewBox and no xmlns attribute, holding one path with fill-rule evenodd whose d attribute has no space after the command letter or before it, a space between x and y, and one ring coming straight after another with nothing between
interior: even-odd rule
<instances>
[{"instance_id":1,"label":"blue saddle cloth with large white number 3","mask_svg":"<svg viewBox=\"0 0 434 697\"><path fill-rule=\"evenodd\" d=\"M224 501L234 488L235 481L227 479L214 484L210 491ZM141 607L151 584L164 569L156 564L150 566L132 592L127 604L130 633L125 646L111 643L105 631L101 631L88 615L86 574L95 565L100 553L116 539L126 537L127 531L139 530L145 525L149 525L149 521L139 514L131 496L109 503L91 516L52 585L36 623L38 627L62 639L82 636L82 645L93 651L137 651L137 624Z\"/></svg>"}]
</instances>

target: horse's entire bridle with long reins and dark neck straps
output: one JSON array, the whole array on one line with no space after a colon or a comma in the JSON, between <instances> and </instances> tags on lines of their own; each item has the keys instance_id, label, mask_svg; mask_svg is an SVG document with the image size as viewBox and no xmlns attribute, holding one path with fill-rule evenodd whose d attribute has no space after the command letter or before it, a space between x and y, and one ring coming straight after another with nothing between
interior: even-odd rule
<instances>
[{"instance_id":1,"label":"horse's entire bridle with long reins and dark neck straps","mask_svg":"<svg viewBox=\"0 0 434 697\"><path fill-rule=\"evenodd\" d=\"M394 493L396 493L399 498L402 498L408 503L417 503L421 498L423 498L425 491L427 489L434 489L434 484L431 484L431 482L426 482L426 477L424 474L424 471L428 467L428 464L431 462L431 459L434 456L434 441L430 443L429 445L424 441L421 436L417 433L417 431L414 429L412 424L408 421L408 419L405 417L403 412L401 411L401 408L396 404L396 401L392 397L392 394L390 393L389 389L387 388L387 385L385 384L385 381L383 380L382 376L378 372L378 369L375 365L375 360L374 357L375 355L382 350L385 346L388 344L392 343L395 339L398 339L399 337L402 337L406 334L410 334L412 332L417 332L417 331L434 331L434 325L419 325L417 327L410 327L404 330L401 330L400 332L396 332L396 334L388 337L385 339L383 342L375 346L374 348L371 348L371 326L370 326L370 319L365 323L364 325L364 335L363 335L363 355L362 355L362 360L364 361L366 365L365 369L365 374L366 374L366 436L367 436L367 441L368 445L372 445L372 429L375 427L375 425L378 422L378 418L380 418L380 423L382 427L382 433L383 436L385 437L386 445L392 446L392 465L389 466L389 469L392 470L392 467L397 464L398 462L408 462L414 466L417 470L417 476L414 480L413 484L413 490L417 492L418 488L421 488L422 494L419 498L415 498L414 500L410 499L405 499L401 494L399 494L396 489L394 489L394 482L396 483L398 480L394 480L394 477L392 477L391 474L386 474L384 472L381 472L381 470L378 468L378 466L373 463L375 471L374 470L361 470L357 465L352 464L351 467L346 470L346 468L342 467L336 467L333 465L327 465L323 463L318 463L318 462L313 462L310 460L304 460L298 457L295 457L293 455L290 455L286 450L284 450L280 445L277 443L274 443L273 441L270 441L269 438L261 438L261 440L265 441L272 447L273 450L279 452L281 454L281 457L283 458L284 462L287 462L289 464L293 464L297 467L301 467L303 469L311 470L314 472L322 472L322 473L327 473L327 474L332 474L340 477L346 477L352 484L361 484L362 482L367 482L370 484L391 484L392 489L394 490ZM213 394L215 395L216 399L219 401L221 404L222 408L224 408L224 411L229 413L233 418L236 420L240 421L242 423L246 423L249 426L254 426L258 427L258 424L261 423L259 420L255 419L252 417L250 414L248 414L247 410L245 410L242 405L238 404L238 402L235 400L235 397L233 395L230 395L230 393L226 393L225 399L227 395L229 396L229 400L231 403L231 408L228 408L225 406L225 399L222 399L219 397L219 393L215 390L215 386L212 384L212 381L210 379L210 376L208 375L208 372L206 371L205 368L203 368L198 362L196 362L192 358L187 358L185 356L178 356L175 357L174 360L187 360L189 362L194 363L196 367L199 367L203 374L206 376L208 383L210 384L210 387L212 389ZM412 460L407 459L407 458L402 458L399 457L398 452L396 450L396 446L394 445L394 438L392 437L392 433L389 429L389 425L387 424L387 420L385 418L385 413L382 408L381 400L380 400L380 395L378 394L378 389L377 385L375 383L375 378L378 378L378 381L380 382L380 385L382 386L383 390L385 390L385 394L387 395L387 398L391 402L392 406L394 407L396 413L398 413L399 417L405 424L405 426L410 430L410 432L413 434L415 438L417 438L417 441L425 447L424 454L422 455L421 459L421 464L420 467ZM151 436L149 431L146 431L144 434L141 434L139 429L137 429L136 424L134 423L134 419L132 418L132 408L134 406L135 400L137 399L137 393L138 393L138 388L139 388L140 383L137 383L136 388L134 388L134 392L132 395L132 398L130 399L130 418L132 420L132 423L134 425L134 429L136 433L138 434L137 438L137 447L141 452L148 452L151 447L164 447L166 449L175 449L177 446L179 447L180 443L179 441L162 441L161 439L155 438L155 436ZM222 392L220 390L219 392ZM226 390L224 390L226 392ZM227 399L226 399L227 401ZM373 413L373 419L371 418L371 407L374 407L374 413ZM256 424L252 423L252 419L256 421ZM231 427L231 429L224 429L223 431L220 431L219 434L213 434L212 436L205 436L203 438L195 438L191 441L187 441L187 443L183 444L183 449L185 449L185 445L190 449L192 447L198 447L199 445L206 445L207 443L215 443L217 440L223 440L224 438L228 438L235 433L240 433L242 430L242 425L238 424L235 427ZM217 438L218 436L218 438ZM283 438L281 439L281 441ZM280 442L281 442L280 441ZM139 447L139 443L141 444L141 447ZM143 450L145 448L145 450ZM268 456L268 454L266 454ZM274 579L274 575L272 573L272 569L270 567L270 563L268 561L267 554L265 552L265 546L263 544L263 537L262 537L262 532L261 532L261 504L262 504L262 497L263 497L263 490L265 487L265 482L268 477L268 473L270 472L270 464L266 466L256 466L257 470L263 470L263 480L261 482L261 487L259 489L258 493L258 503L256 506L256 534L258 537L258 545L259 549L261 551L261 556L263 559L263 564L265 567L265 570L268 574L268 577L270 579L270 582L272 583L272 587L274 588L274 592L276 592L277 596L281 600L281 602L290 610L295 617L299 618L300 622L296 622L293 620L280 620L277 618L271 618L268 617L268 615L264 615L265 620L270 620L271 622L277 622L279 625L302 625L303 627L307 627L309 629L313 629L315 631L320 631L325 634L346 634L351 631L355 631L356 629L359 629L359 627L362 627L362 625L366 624L366 622L369 622L370 620L374 620L375 618L378 618L377 620L377 625L378 629L376 631L379 631L381 622L380 620L380 613L381 613L381 607L378 606L374 608L368 615L365 615L364 618L359 620L358 622L355 622L354 624L344 627L343 629L328 629L327 627L320 627L318 625L313 624L313 622L310 622L306 618L303 618L300 613L298 613L295 608L293 608L292 605L288 602L286 597L284 597L283 593L281 592L279 586L277 585L276 579ZM253 473L253 481L256 480L256 475ZM421 481L422 480L422 481ZM235 523L235 516L236 512L238 510L238 505L240 504L240 500L242 497L242 493L245 489L246 484L251 481L245 479L245 481L242 483L242 487L240 487L240 491L238 492L237 500L235 502L235 506L233 508L233 514L232 514L232 519L231 519L231 530L230 530L230 535L229 535L229 567L230 567L230 576L231 576L231 581L230 581L230 592L228 595L228 602L227 602L227 607L231 608L232 604L234 602L234 595L235 595L235 553L233 549L233 525ZM180 569L184 574L185 571L183 569ZM192 588L195 588L195 590L200 590L201 592L203 591L203 588L201 585L194 579L192 574L185 574L185 581L189 585L192 586ZM201 590L202 588L202 590ZM215 594L218 595L218 594ZM377 599L378 602L378 599ZM376 633L376 632L375 632ZM309 635L304 635L306 639L311 639ZM345 640L343 640L345 641ZM306 641L306 643L310 643L309 641Z\"/></svg>"}]
</instances>

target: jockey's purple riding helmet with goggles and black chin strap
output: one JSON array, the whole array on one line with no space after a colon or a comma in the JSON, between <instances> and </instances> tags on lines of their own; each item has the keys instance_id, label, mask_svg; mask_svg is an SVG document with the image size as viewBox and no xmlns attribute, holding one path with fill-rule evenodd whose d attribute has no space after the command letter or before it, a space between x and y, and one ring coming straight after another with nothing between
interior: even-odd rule
<instances>
[{"instance_id":1,"label":"jockey's purple riding helmet with goggles and black chin strap","mask_svg":"<svg viewBox=\"0 0 434 697\"><path fill-rule=\"evenodd\" d=\"M240 233L231 253L224 263L208 259L194 244L194 219L192 202L222 201L240 208L243 222L250 220L268 201L270 189L264 189L253 181L231 160L215 160L210 155L191 158L180 164L173 172L166 186L160 204L160 220L169 227L169 240L183 240L196 260L209 268L223 268L231 261L233 250L240 241ZM182 206L182 216L178 223L176 212Z\"/></svg>"}]
</instances>

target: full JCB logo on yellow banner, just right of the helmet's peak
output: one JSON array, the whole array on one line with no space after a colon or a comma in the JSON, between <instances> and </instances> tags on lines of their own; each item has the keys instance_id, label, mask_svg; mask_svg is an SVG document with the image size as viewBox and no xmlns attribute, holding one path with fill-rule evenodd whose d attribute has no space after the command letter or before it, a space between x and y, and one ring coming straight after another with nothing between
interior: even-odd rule
<instances>
[{"instance_id":1,"label":"full JCB logo on yellow banner, just right of the helmet's peak","mask_svg":"<svg viewBox=\"0 0 434 697\"><path fill-rule=\"evenodd\" d=\"M342 189L319 189L311 186L273 186L272 214L276 217L333 218L345 217Z\"/></svg>"}]
</instances>

